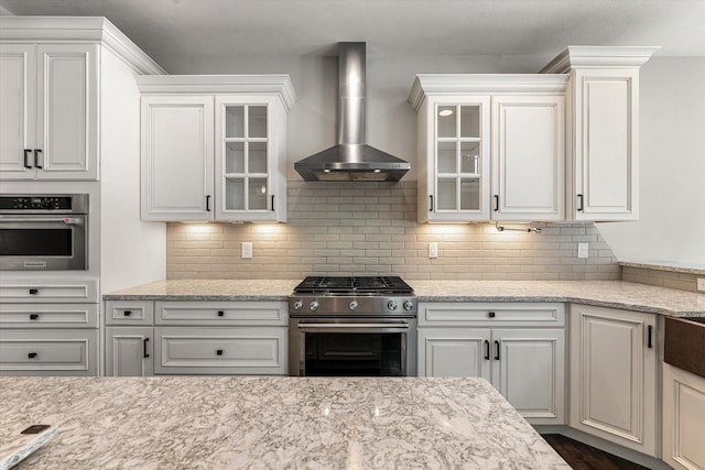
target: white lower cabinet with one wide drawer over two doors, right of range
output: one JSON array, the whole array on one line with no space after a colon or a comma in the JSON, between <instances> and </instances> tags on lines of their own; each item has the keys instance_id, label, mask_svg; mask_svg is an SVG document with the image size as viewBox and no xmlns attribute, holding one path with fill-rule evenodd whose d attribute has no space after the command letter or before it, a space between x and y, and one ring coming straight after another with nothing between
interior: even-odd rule
<instances>
[{"instance_id":1,"label":"white lower cabinet with one wide drawer over two doors, right of range","mask_svg":"<svg viewBox=\"0 0 705 470\"><path fill-rule=\"evenodd\" d=\"M565 423L562 304L419 307L419 375L481 376L530 423Z\"/></svg>"}]
</instances>

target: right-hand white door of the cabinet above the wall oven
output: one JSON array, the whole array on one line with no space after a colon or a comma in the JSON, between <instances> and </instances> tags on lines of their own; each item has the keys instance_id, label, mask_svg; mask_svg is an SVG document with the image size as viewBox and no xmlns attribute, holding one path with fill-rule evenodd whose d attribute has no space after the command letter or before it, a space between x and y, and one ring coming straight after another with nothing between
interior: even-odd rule
<instances>
[{"instance_id":1,"label":"right-hand white door of the cabinet above the wall oven","mask_svg":"<svg viewBox=\"0 0 705 470\"><path fill-rule=\"evenodd\" d=\"M97 179L98 46L37 46L40 179Z\"/></svg>"}]
</instances>

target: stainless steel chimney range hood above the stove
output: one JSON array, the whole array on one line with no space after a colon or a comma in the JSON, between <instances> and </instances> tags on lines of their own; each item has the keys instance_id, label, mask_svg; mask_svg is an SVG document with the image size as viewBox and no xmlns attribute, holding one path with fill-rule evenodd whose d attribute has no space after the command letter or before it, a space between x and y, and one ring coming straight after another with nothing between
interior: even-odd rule
<instances>
[{"instance_id":1,"label":"stainless steel chimney range hood above the stove","mask_svg":"<svg viewBox=\"0 0 705 470\"><path fill-rule=\"evenodd\" d=\"M365 43L338 43L338 143L294 163L306 182L398 182L411 164L367 145Z\"/></svg>"}]
</instances>

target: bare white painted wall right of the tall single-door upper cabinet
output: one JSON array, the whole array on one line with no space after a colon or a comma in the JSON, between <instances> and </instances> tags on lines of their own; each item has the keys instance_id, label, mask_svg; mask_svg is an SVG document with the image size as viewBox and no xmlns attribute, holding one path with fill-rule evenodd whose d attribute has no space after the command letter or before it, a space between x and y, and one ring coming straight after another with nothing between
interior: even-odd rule
<instances>
[{"instance_id":1,"label":"bare white painted wall right of the tall single-door upper cabinet","mask_svg":"<svg viewBox=\"0 0 705 470\"><path fill-rule=\"evenodd\" d=\"M705 265L705 58L640 74L640 218L598 223L619 261Z\"/></svg>"}]
</instances>

